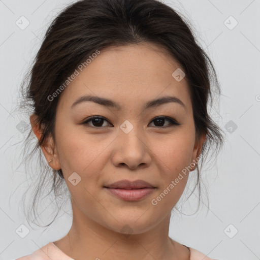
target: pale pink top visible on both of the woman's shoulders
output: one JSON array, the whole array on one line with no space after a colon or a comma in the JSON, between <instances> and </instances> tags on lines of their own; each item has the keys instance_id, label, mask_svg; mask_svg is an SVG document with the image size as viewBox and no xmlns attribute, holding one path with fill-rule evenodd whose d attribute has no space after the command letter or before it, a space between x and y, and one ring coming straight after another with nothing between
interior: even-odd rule
<instances>
[{"instance_id":1,"label":"pale pink top visible on both of the woman's shoulders","mask_svg":"<svg viewBox=\"0 0 260 260\"><path fill-rule=\"evenodd\" d=\"M217 260L207 257L202 252L197 251L191 247L190 250L190 260ZM64 254L58 247L56 247L52 242L38 249L30 255L20 257L16 260L74 260L68 255Z\"/></svg>"}]
</instances>

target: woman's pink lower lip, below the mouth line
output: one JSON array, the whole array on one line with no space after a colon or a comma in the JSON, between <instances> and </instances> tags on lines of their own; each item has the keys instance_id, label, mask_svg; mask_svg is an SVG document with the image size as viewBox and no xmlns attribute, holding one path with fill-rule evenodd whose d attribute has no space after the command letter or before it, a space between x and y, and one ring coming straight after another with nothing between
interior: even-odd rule
<instances>
[{"instance_id":1,"label":"woman's pink lower lip, below the mouth line","mask_svg":"<svg viewBox=\"0 0 260 260\"><path fill-rule=\"evenodd\" d=\"M125 201L139 201L148 196L155 188L142 189L120 189L120 188L106 188L109 192L114 194L119 199Z\"/></svg>"}]
</instances>

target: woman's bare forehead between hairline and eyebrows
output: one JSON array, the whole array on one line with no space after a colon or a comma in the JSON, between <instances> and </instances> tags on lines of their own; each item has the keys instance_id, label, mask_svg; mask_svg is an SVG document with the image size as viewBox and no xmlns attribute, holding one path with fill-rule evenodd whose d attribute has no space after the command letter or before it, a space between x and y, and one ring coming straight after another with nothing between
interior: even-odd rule
<instances>
[{"instance_id":1,"label":"woman's bare forehead between hairline and eyebrows","mask_svg":"<svg viewBox=\"0 0 260 260\"><path fill-rule=\"evenodd\" d=\"M175 95L190 109L188 82L172 76L180 66L164 48L151 43L111 46L95 56L63 90L60 106L72 106L87 94L117 101L125 108Z\"/></svg>"}]
</instances>

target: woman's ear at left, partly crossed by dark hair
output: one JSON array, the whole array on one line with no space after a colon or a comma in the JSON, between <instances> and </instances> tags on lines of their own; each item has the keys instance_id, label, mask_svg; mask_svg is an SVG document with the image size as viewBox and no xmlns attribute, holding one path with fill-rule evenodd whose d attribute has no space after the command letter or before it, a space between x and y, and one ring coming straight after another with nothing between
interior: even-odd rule
<instances>
[{"instance_id":1,"label":"woman's ear at left, partly crossed by dark hair","mask_svg":"<svg viewBox=\"0 0 260 260\"><path fill-rule=\"evenodd\" d=\"M36 135L38 141L40 141L42 137L42 129L39 126L39 123L37 122L37 116L35 114L30 115L30 124L32 131ZM51 168L54 170L61 169L60 167L60 161L57 153L56 147L54 147L54 142L52 137L48 137L47 140L44 142L44 144L41 146L41 149L43 151L43 154ZM52 159L52 161L50 161Z\"/></svg>"}]
</instances>

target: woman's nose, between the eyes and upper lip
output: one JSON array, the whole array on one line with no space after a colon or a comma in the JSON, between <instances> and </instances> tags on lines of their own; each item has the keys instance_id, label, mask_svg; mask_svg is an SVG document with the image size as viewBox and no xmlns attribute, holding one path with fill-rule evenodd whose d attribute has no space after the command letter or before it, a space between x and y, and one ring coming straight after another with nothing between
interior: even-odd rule
<instances>
[{"instance_id":1,"label":"woman's nose, between the eyes and upper lip","mask_svg":"<svg viewBox=\"0 0 260 260\"><path fill-rule=\"evenodd\" d=\"M138 131L138 127L134 127L129 133L119 130L112 156L115 167L127 167L131 170L149 167L151 154L148 140Z\"/></svg>"}]
</instances>

